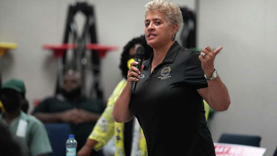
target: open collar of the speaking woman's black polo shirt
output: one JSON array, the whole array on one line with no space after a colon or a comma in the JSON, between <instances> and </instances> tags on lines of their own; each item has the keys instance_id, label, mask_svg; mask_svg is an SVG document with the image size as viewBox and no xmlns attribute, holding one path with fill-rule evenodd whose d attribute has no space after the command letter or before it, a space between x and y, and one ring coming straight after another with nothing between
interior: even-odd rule
<instances>
[{"instance_id":1,"label":"open collar of the speaking woman's black polo shirt","mask_svg":"<svg viewBox=\"0 0 277 156\"><path fill-rule=\"evenodd\" d=\"M162 63L173 63L180 47L181 45L178 43L178 41L175 41L166 53L166 56L164 57ZM153 57L154 53L152 53L149 60L145 62L144 68L147 68L147 66L151 65Z\"/></svg>"}]
</instances>

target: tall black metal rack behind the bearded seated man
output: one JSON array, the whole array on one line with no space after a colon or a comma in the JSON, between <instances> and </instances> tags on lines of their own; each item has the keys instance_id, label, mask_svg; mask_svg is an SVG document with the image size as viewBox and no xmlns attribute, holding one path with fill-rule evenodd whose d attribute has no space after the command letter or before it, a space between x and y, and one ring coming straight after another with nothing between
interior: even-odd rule
<instances>
[{"instance_id":1,"label":"tall black metal rack behind the bearded seated man","mask_svg":"<svg viewBox=\"0 0 277 156\"><path fill-rule=\"evenodd\" d=\"M81 11L85 17L85 25L83 28L83 32L81 36L78 36L77 33L77 25L74 22L74 16L77 12ZM87 63L87 56L86 56L86 44L89 40L89 43L97 43L96 37L96 20L95 20L94 8L93 5L87 4L87 2L72 2L68 9L68 16L65 25L65 33L63 43L73 42L76 44L76 49L74 49L73 61L67 62L66 55L67 51L63 55L63 65L66 68L67 64L73 66L73 68L77 69L81 73L81 78L83 81L83 88L85 88L85 68ZM71 39L71 40L70 40ZM99 86L100 80L100 57L97 51L91 51L91 57L89 58L91 61L92 66L92 73L93 73L93 82L90 88L89 96L91 98L92 94L96 94L96 98L102 99L103 93ZM63 69L63 73L65 72L65 68ZM57 85L56 85L56 94L60 92L60 84L58 77ZM84 92L84 90L83 90Z\"/></svg>"}]
</instances>

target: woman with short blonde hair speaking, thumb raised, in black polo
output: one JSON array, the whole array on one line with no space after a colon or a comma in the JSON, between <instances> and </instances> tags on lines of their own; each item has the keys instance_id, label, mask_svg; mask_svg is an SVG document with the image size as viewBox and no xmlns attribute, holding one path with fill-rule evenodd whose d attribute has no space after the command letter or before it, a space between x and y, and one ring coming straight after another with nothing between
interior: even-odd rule
<instances>
[{"instance_id":1,"label":"woman with short blonde hair speaking, thumb raised, in black polo","mask_svg":"<svg viewBox=\"0 0 277 156\"><path fill-rule=\"evenodd\" d=\"M175 36L182 25L180 8L167 1L145 5L145 38L154 53L141 70L132 62L125 88L117 98L116 122L138 119L148 156L214 156L203 99L216 111L230 105L228 90L214 68L216 54L181 47ZM133 77L134 76L134 77ZM139 81L135 92L131 82Z\"/></svg>"}]
</instances>

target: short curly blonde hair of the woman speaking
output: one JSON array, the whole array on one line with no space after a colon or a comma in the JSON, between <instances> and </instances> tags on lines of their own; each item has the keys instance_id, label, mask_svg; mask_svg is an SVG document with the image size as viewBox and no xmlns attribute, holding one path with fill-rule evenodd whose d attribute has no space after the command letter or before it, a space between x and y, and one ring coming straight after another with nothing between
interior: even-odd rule
<instances>
[{"instance_id":1,"label":"short curly blonde hair of the woman speaking","mask_svg":"<svg viewBox=\"0 0 277 156\"><path fill-rule=\"evenodd\" d=\"M165 15L166 21L169 23L169 25L173 25L174 23L177 23L178 27L177 27L175 36L183 25L183 16L182 16L181 10L174 3L169 3L168 1L165 1L165 0L154 0L154 1L148 2L144 6L144 8L145 8L145 15L150 10L158 10Z\"/></svg>"}]
</instances>

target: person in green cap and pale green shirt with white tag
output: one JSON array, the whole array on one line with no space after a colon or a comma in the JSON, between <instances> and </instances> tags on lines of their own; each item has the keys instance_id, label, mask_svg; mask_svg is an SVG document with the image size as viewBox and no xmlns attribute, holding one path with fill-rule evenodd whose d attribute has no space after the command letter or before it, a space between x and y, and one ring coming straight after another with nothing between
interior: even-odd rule
<instances>
[{"instance_id":1,"label":"person in green cap and pale green shirt with white tag","mask_svg":"<svg viewBox=\"0 0 277 156\"><path fill-rule=\"evenodd\" d=\"M7 127L14 141L20 145L23 155L48 155L52 153L52 148L44 125L21 110L20 99L23 92L25 87L21 80L11 79L3 84L0 100L5 112L1 113L0 122Z\"/></svg>"}]
</instances>

